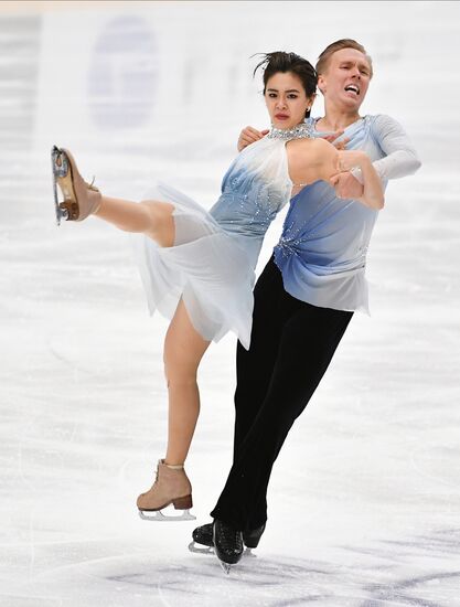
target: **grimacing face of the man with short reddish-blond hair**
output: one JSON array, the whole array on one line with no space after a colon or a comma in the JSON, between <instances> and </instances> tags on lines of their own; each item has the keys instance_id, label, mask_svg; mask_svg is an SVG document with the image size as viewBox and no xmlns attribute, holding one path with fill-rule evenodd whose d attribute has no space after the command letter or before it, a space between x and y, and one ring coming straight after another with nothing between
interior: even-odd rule
<instances>
[{"instance_id":1,"label":"grimacing face of the man with short reddish-blond hair","mask_svg":"<svg viewBox=\"0 0 460 607\"><path fill-rule=\"evenodd\" d=\"M355 49L341 49L329 60L328 67L318 78L325 100L357 110L366 96L371 81L371 65L366 56Z\"/></svg>"}]
</instances>

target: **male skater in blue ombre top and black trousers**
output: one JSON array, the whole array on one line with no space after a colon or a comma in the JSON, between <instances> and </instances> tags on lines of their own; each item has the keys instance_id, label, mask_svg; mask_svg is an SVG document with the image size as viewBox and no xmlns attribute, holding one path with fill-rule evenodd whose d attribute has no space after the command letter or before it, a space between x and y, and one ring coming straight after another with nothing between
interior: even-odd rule
<instances>
[{"instance_id":1,"label":"male skater in blue ombre top and black trousers","mask_svg":"<svg viewBox=\"0 0 460 607\"><path fill-rule=\"evenodd\" d=\"M325 114L309 120L319 136L344 130L346 148L364 150L384 185L420 167L398 123L385 115L360 116L373 75L361 44L330 44L317 72ZM244 129L238 149L260 137L256 129ZM354 310L367 310L364 271L377 211L353 200L361 194L356 171L336 175L331 184L303 188L291 201L280 241L256 284L250 349L237 347L233 466L211 513L214 523L193 532L196 543L214 545L227 568L239 561L244 545L257 546L279 450Z\"/></svg>"}]
</instances>

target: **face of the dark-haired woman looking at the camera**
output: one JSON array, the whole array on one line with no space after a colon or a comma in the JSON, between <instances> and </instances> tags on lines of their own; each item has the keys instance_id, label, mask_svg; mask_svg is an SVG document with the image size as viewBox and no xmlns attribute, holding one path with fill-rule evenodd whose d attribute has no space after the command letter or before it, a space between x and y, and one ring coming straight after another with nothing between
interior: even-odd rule
<instances>
[{"instance_id":1,"label":"face of the dark-haired woman looking at the camera","mask_svg":"<svg viewBox=\"0 0 460 607\"><path fill-rule=\"evenodd\" d=\"M265 103L275 128L289 129L303 123L313 98L307 97L302 81L292 72L277 72L265 88Z\"/></svg>"}]
</instances>

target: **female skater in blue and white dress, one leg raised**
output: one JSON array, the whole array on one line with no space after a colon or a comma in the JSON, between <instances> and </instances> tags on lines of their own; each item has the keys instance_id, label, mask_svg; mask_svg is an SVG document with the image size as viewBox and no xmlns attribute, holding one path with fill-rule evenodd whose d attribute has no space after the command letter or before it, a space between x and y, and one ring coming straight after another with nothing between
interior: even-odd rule
<instances>
[{"instance_id":1,"label":"female skater in blue and white dress, one leg raised","mask_svg":"<svg viewBox=\"0 0 460 607\"><path fill-rule=\"evenodd\" d=\"M338 151L311 137L304 119L315 95L312 65L295 53L275 52L265 55L255 72L259 67L272 128L237 156L210 212L164 184L159 185L158 200L135 203L105 196L82 179L67 150L53 148L54 179L64 196L61 203L55 199L57 220L83 221L94 214L143 234L141 275L150 310L158 308L172 318L163 355L168 448L153 486L138 498L142 518L153 512L153 519L171 519L161 513L170 504L184 511L172 519L192 518L184 461L200 411L196 371L211 341L228 330L248 349L254 270L278 211L304 185L329 181L352 167L361 169L364 180L360 201L375 209L384 203L381 180L365 153Z\"/></svg>"}]
</instances>

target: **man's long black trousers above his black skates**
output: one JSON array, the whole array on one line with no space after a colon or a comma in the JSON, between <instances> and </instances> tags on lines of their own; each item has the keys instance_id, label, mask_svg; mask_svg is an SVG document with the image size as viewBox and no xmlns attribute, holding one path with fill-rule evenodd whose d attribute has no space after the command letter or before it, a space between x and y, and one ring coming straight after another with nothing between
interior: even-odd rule
<instances>
[{"instance_id":1,"label":"man's long black trousers above his black skates","mask_svg":"<svg viewBox=\"0 0 460 607\"><path fill-rule=\"evenodd\" d=\"M267 520L272 465L353 312L291 297L271 258L257 280L250 349L236 354L234 461L211 515L242 531Z\"/></svg>"}]
</instances>

